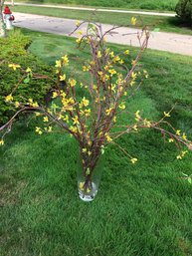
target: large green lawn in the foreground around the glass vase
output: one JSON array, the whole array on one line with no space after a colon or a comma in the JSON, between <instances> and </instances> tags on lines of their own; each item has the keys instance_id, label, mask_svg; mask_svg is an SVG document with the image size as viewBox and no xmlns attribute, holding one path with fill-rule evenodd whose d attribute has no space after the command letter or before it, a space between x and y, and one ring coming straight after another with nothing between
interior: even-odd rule
<instances>
[{"instance_id":1,"label":"large green lawn in the foreground around the glass vase","mask_svg":"<svg viewBox=\"0 0 192 256\"><path fill-rule=\"evenodd\" d=\"M24 32L33 39L29 51L49 64L67 53L84 78L77 57L89 55L74 39ZM192 137L192 58L147 50L142 63L150 76L127 103L130 111L158 119L176 104L170 122ZM108 146L96 200L85 203L77 193L73 138L37 135L35 122L26 125L21 120L0 148L0 255L192 255L192 185L181 178L192 173L192 153L176 160L177 149L152 130L123 136L118 143L137 164Z\"/></svg>"}]
</instances>

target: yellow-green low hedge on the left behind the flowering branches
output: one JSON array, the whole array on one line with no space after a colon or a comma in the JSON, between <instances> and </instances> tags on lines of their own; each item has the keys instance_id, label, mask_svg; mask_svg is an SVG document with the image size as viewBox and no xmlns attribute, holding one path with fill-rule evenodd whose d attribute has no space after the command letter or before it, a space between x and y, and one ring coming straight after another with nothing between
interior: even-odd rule
<instances>
[{"instance_id":1,"label":"yellow-green low hedge on the left behind the flowering branches","mask_svg":"<svg viewBox=\"0 0 192 256\"><path fill-rule=\"evenodd\" d=\"M20 78L20 71L8 67L9 63L20 65L27 69L30 67L34 73L50 75L52 68L43 63L37 57L27 51L30 38L19 31L14 31L7 38L0 38L0 124L4 124L14 114L15 108L5 103L5 97L9 95ZM48 80L31 80L29 84L22 83L14 93L14 100L20 101L32 98L42 103L47 92L52 87Z\"/></svg>"}]
</instances>

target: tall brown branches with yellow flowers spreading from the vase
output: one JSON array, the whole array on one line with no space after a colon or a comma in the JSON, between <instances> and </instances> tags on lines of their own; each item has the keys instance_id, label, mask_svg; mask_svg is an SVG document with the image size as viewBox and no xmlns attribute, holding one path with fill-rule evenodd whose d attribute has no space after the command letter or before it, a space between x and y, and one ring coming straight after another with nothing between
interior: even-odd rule
<instances>
[{"instance_id":1,"label":"tall brown branches with yellow flowers spreading from the vase","mask_svg":"<svg viewBox=\"0 0 192 256\"><path fill-rule=\"evenodd\" d=\"M83 23L77 23L77 29L74 33L81 28ZM131 24L135 25L135 23L136 19L133 17ZM127 68L124 66L124 61L129 55L129 49L114 54L105 43L104 38L111 31L112 29L102 32L101 26L96 23L89 23L86 34L79 31L81 36L77 40L79 47L90 47L91 51L91 60L83 66L83 71L90 76L90 83L83 83L72 76L67 76L66 69L70 65L70 60L68 55L65 55L55 64L57 81L53 81L55 89L52 92L51 107L40 107L33 99L15 102L14 92L19 84L10 95L5 97L5 101L14 105L18 111L7 124L0 128L0 131L5 130L0 139L1 145L4 144L4 137L11 130L16 117L21 113L33 112L36 116L42 117L44 124L42 128L36 127L35 131L38 134L51 132L53 126L57 125L67 130L78 140L85 176L89 177L94 171L104 146L109 143L117 145L133 164L136 163L137 158L131 156L114 140L125 133L138 131L140 128L156 129L167 136L169 142L175 142L180 151L176 156L178 159L182 159L187 152L187 150L182 149L181 144L186 145L190 150L192 149L192 142L187 138L185 132L173 128L166 121L170 117L171 111L164 112L163 118L158 122L142 118L140 111L137 111L134 113L134 124L129 126L116 125L119 116L127 113L126 102L129 97L139 89L142 81L148 78L147 71L141 70L138 62L147 47L149 32L143 30L140 34L138 33L139 42L142 41L142 43L136 58L131 61L130 68ZM33 78L41 78L41 76L33 74L30 68L24 71L18 64L12 63L8 66L13 71L19 69L24 74L22 80L25 79L26 83L30 83ZM65 88L61 88L61 82L65 82ZM77 94L80 88L87 92L83 98ZM60 103L58 101L56 103L55 99ZM164 125L167 125L172 131L162 128Z\"/></svg>"}]
</instances>

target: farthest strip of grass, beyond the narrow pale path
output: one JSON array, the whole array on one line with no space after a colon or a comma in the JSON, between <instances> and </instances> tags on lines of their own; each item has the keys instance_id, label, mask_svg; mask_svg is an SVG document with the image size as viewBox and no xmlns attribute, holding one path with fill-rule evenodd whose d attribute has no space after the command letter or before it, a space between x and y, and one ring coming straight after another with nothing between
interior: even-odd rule
<instances>
[{"instance_id":1,"label":"farthest strip of grass, beyond the narrow pale path","mask_svg":"<svg viewBox=\"0 0 192 256\"><path fill-rule=\"evenodd\" d=\"M16 2L21 2L16 0ZM177 0L23 0L22 2L38 2L50 4L65 4L65 5L86 5L100 7L115 7L115 8L130 8L130 9L146 9L146 10L168 10L174 11Z\"/></svg>"}]
</instances>

